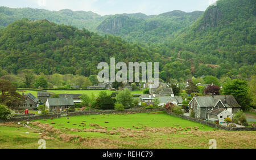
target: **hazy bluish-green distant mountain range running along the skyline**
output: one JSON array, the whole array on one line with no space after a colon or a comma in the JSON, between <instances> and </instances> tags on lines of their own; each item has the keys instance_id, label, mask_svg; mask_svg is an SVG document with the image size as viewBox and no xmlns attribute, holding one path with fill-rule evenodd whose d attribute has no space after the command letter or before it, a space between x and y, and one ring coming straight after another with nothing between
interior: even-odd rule
<instances>
[{"instance_id":1,"label":"hazy bluish-green distant mountain range running along the skyline","mask_svg":"<svg viewBox=\"0 0 256 160\"><path fill-rule=\"evenodd\" d=\"M191 25L201 14L202 11L172 11L150 16L142 13L100 16L91 11L0 7L0 28L22 18L34 21L47 19L57 24L86 28L102 36L113 34L127 41L164 42L173 40L177 31Z\"/></svg>"}]
</instances>

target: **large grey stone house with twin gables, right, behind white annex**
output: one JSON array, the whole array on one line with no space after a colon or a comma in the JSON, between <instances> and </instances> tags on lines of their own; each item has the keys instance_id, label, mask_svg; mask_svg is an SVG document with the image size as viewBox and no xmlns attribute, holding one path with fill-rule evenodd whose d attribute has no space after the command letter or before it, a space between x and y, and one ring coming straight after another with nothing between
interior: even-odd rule
<instances>
[{"instance_id":1,"label":"large grey stone house with twin gables, right, behind white annex","mask_svg":"<svg viewBox=\"0 0 256 160\"><path fill-rule=\"evenodd\" d=\"M203 120L208 119L208 112L216 109L225 109L232 114L236 114L241 106L234 96L200 96L194 97L189 102L189 114L194 111L195 117Z\"/></svg>"}]
</instances>

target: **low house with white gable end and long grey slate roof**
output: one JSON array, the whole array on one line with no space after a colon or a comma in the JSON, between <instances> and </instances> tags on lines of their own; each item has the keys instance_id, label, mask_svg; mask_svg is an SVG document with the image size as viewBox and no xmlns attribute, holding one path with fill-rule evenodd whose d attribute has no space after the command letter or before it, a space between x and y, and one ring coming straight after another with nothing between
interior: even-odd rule
<instances>
[{"instance_id":1,"label":"low house with white gable end and long grey slate roof","mask_svg":"<svg viewBox=\"0 0 256 160\"><path fill-rule=\"evenodd\" d=\"M64 111L75 106L73 98L48 98L46 108L50 111Z\"/></svg>"}]
</instances>

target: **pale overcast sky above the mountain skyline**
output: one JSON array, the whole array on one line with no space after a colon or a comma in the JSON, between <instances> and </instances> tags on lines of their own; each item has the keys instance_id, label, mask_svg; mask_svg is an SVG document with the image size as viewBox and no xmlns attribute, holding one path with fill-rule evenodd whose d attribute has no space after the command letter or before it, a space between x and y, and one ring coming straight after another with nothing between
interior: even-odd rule
<instances>
[{"instance_id":1,"label":"pale overcast sky above the mountain skyline","mask_svg":"<svg viewBox=\"0 0 256 160\"><path fill-rule=\"evenodd\" d=\"M137 13L162 14L173 10L205 11L217 0L0 0L0 6L44 8L51 11L71 9L93 11L100 15Z\"/></svg>"}]
</instances>

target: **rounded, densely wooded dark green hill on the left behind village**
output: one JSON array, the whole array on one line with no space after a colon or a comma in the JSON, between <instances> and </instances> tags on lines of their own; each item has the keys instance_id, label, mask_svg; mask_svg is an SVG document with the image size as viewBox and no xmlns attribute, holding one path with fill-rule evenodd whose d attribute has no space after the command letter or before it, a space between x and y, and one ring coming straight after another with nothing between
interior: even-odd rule
<instances>
[{"instance_id":1,"label":"rounded, densely wooded dark green hill on the left behind village","mask_svg":"<svg viewBox=\"0 0 256 160\"><path fill-rule=\"evenodd\" d=\"M9 73L23 69L35 73L97 74L100 62L115 57L119 62L152 60L153 53L119 37L101 37L48 20L22 19L0 30L0 68Z\"/></svg>"}]
</instances>

